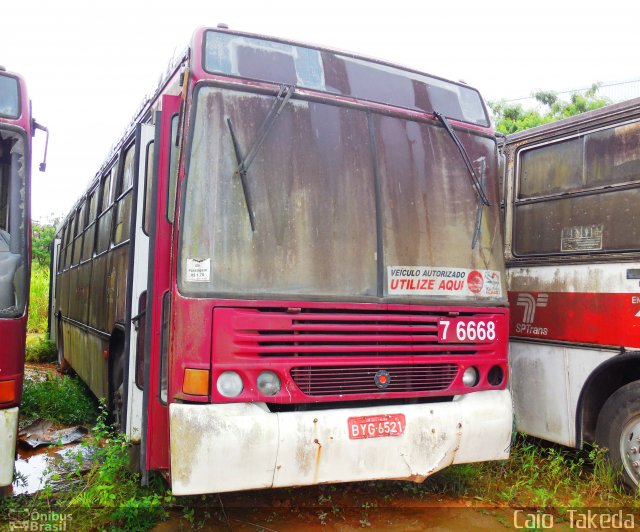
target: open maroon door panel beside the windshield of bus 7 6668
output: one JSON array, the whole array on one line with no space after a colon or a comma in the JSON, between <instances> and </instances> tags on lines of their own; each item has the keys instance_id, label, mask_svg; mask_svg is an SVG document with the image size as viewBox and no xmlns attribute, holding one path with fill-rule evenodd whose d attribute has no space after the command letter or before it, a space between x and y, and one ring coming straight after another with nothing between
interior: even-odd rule
<instances>
[{"instance_id":1,"label":"open maroon door panel beside the windshield of bus 7 6668","mask_svg":"<svg viewBox=\"0 0 640 532\"><path fill-rule=\"evenodd\" d=\"M154 179L151 191L149 260L146 266L147 298L144 341L144 405L141 461L143 481L147 472L169 469L168 354L170 271L173 198L169 180L177 164L176 137L180 97L162 97L156 113ZM174 181L175 184L175 181ZM136 264L143 268L144 264Z\"/></svg>"}]
</instances>

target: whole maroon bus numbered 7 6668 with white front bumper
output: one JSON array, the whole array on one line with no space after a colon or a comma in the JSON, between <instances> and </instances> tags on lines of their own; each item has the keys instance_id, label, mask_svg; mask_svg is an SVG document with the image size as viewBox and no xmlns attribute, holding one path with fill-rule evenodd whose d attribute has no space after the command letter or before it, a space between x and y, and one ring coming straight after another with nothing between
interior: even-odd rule
<instances>
[{"instance_id":1,"label":"whole maroon bus numbered 7 6668 with white front bumper","mask_svg":"<svg viewBox=\"0 0 640 532\"><path fill-rule=\"evenodd\" d=\"M61 362L177 495L506 458L497 178L475 89L198 30L57 235Z\"/></svg>"}]
</instances>

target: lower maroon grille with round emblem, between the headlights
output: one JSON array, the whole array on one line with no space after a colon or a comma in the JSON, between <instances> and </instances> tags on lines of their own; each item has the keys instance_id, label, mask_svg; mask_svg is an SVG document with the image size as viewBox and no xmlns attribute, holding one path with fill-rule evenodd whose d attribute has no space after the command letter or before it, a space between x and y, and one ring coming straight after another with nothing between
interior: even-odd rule
<instances>
[{"instance_id":1,"label":"lower maroon grille with round emblem, between the headlights","mask_svg":"<svg viewBox=\"0 0 640 532\"><path fill-rule=\"evenodd\" d=\"M381 371L388 375L384 388L376 384ZM323 366L292 368L291 378L305 395L356 395L445 390L457 372L456 364Z\"/></svg>"}]
</instances>

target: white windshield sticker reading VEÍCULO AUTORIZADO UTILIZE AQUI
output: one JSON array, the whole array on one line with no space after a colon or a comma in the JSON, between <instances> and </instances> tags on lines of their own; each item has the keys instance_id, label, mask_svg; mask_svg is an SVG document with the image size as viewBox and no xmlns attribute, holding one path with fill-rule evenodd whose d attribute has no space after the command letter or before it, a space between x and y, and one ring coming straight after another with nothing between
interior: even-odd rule
<instances>
[{"instance_id":1,"label":"white windshield sticker reading VE\u00cdCULO AUTORIZADO UTILIZE AQUI","mask_svg":"<svg viewBox=\"0 0 640 532\"><path fill-rule=\"evenodd\" d=\"M389 266L389 295L502 297L500 272L431 266Z\"/></svg>"}]
</instances>

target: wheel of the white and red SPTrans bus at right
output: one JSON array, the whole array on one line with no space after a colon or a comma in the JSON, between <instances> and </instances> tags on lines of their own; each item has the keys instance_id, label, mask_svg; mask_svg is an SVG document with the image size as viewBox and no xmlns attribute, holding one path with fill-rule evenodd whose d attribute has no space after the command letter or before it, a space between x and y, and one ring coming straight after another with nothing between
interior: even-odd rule
<instances>
[{"instance_id":1,"label":"wheel of the white and red SPTrans bus at right","mask_svg":"<svg viewBox=\"0 0 640 532\"><path fill-rule=\"evenodd\" d=\"M611 465L635 492L640 481L640 381L607 399L598 416L596 442L609 449Z\"/></svg>"}]
</instances>

